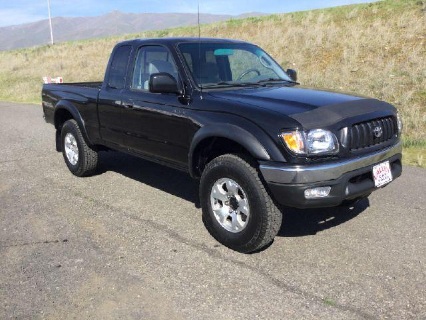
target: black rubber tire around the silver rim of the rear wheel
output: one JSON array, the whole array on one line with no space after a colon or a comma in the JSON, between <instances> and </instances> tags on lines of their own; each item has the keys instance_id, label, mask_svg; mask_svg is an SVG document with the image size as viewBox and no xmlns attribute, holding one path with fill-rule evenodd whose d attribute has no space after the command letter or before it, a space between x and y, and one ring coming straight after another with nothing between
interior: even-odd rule
<instances>
[{"instance_id":1,"label":"black rubber tire around the silver rim of the rear wheel","mask_svg":"<svg viewBox=\"0 0 426 320\"><path fill-rule=\"evenodd\" d=\"M65 137L66 134L70 133L75 137L78 146L78 161L76 164L72 164L65 152ZM97 167L99 162L98 152L87 145L86 141L83 138L83 134L81 134L81 129L78 126L77 121L75 120L67 120L63 126L60 135L60 141L62 144L62 154L63 159L65 160L66 166L69 171L72 172L73 175L78 177L85 177L88 175L92 175Z\"/></svg>"}]
</instances>

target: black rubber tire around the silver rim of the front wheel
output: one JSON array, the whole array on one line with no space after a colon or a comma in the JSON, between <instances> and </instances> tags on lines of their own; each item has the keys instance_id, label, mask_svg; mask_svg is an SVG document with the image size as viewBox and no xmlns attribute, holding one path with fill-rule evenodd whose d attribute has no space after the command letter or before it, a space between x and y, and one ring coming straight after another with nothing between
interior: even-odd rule
<instances>
[{"instance_id":1,"label":"black rubber tire around the silver rim of the front wheel","mask_svg":"<svg viewBox=\"0 0 426 320\"><path fill-rule=\"evenodd\" d=\"M234 180L248 198L250 216L246 227L237 233L222 227L213 213L210 193L221 178ZM256 163L245 155L224 154L207 164L201 175L200 204L203 222L210 234L225 246L242 253L267 246L281 227L282 212L262 182Z\"/></svg>"}]
</instances>

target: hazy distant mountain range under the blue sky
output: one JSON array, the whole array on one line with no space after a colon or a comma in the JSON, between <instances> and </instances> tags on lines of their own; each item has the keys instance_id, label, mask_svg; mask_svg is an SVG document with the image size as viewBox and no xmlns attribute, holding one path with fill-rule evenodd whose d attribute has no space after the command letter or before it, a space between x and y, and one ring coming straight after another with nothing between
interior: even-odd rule
<instances>
[{"instance_id":1,"label":"hazy distant mountain range under the blue sky","mask_svg":"<svg viewBox=\"0 0 426 320\"><path fill-rule=\"evenodd\" d=\"M201 14L201 23L227 21L265 15L250 12L242 15ZM92 17L52 18L55 42L81 40L108 35L121 35L148 30L167 29L178 26L194 26L198 23L196 13L126 13L112 11ZM49 20L40 20L14 26L0 27L0 50L32 47L50 42Z\"/></svg>"}]
</instances>

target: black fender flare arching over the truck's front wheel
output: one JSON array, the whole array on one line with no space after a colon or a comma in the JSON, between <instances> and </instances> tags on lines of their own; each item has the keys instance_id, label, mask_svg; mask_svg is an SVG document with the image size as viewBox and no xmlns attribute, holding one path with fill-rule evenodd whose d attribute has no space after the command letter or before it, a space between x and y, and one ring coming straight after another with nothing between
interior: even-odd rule
<instances>
[{"instance_id":1,"label":"black fender flare arching over the truck's front wheel","mask_svg":"<svg viewBox=\"0 0 426 320\"><path fill-rule=\"evenodd\" d=\"M188 154L189 172L191 177L196 177L194 167L194 152L199 143L207 138L222 137L233 140L244 147L257 160L271 160L271 156L263 145L247 130L228 123L215 123L199 129L194 135Z\"/></svg>"}]
</instances>

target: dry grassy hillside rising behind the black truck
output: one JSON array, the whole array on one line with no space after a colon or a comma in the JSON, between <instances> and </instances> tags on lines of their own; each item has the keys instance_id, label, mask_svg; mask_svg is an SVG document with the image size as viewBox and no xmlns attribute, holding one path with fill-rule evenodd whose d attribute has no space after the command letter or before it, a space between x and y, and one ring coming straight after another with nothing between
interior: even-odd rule
<instances>
[{"instance_id":1,"label":"dry grassy hillside rising behind the black truck","mask_svg":"<svg viewBox=\"0 0 426 320\"><path fill-rule=\"evenodd\" d=\"M102 80L112 47L124 39L197 35L197 28L176 28L0 52L0 100L40 102L43 75ZM233 20L203 25L201 35L258 44L283 67L296 69L302 84L394 104L404 119L404 144L411 147L407 160L426 165L425 1Z\"/></svg>"}]
</instances>

